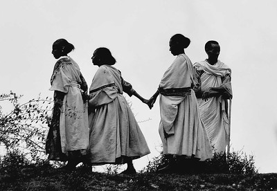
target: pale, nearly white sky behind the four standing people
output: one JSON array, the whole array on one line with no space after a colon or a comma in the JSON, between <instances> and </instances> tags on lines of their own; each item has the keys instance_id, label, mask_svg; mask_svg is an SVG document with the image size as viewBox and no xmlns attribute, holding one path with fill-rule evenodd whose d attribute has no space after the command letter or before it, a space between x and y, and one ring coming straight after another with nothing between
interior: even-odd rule
<instances>
[{"instance_id":1,"label":"pale, nearly white sky behind the four standing people","mask_svg":"<svg viewBox=\"0 0 277 191\"><path fill-rule=\"evenodd\" d=\"M53 96L48 91L55 64L56 39L75 46L70 54L90 85L97 66L93 51L106 46L115 65L141 96L150 98L175 59L168 51L172 35L191 39L186 54L206 59L204 44L221 45L220 60L232 69L231 149L255 156L259 172L277 172L277 103L274 51L277 1L0 1L0 93L24 99ZM159 103L152 110L132 101L152 154L134 161L139 170L159 153Z\"/></svg>"}]
</instances>

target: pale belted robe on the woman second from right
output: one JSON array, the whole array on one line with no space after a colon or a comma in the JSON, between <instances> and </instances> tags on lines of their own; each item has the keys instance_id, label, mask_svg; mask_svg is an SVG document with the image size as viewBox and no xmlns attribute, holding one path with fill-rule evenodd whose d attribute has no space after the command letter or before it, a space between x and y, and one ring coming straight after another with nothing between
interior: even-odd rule
<instances>
[{"instance_id":1,"label":"pale belted robe on the woman second from right","mask_svg":"<svg viewBox=\"0 0 277 191\"><path fill-rule=\"evenodd\" d=\"M193 65L185 55L178 55L159 87L163 89L186 88L194 84ZM213 152L206 129L200 119L195 93L187 96L160 97L161 122L159 134L163 143L163 154L194 156L201 161L212 158Z\"/></svg>"}]
</instances>

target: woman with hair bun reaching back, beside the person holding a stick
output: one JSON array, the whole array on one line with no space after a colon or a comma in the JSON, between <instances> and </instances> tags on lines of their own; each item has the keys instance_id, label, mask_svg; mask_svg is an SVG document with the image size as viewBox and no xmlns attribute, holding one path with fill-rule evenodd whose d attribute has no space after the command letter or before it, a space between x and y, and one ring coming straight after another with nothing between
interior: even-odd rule
<instances>
[{"instance_id":1,"label":"woman with hair bun reaching back, beside the person holding a stick","mask_svg":"<svg viewBox=\"0 0 277 191\"><path fill-rule=\"evenodd\" d=\"M175 61L164 73L159 89L150 98L150 108L160 96L161 122L159 134L163 143L163 154L168 156L169 164L160 172L175 170L175 158L197 158L204 161L212 157L211 143L206 129L200 120L194 91L193 65L184 49L190 39L177 34L170 38L169 46Z\"/></svg>"}]
</instances>

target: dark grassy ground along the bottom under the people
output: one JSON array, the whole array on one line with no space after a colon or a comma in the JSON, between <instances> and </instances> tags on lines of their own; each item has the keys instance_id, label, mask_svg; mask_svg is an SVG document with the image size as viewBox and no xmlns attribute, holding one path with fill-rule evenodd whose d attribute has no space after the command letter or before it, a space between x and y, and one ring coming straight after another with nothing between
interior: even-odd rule
<instances>
[{"instance_id":1,"label":"dark grassy ground along the bottom under the people","mask_svg":"<svg viewBox=\"0 0 277 191\"><path fill-rule=\"evenodd\" d=\"M277 174L136 175L73 172L49 166L0 172L0 190L277 190Z\"/></svg>"}]
</instances>

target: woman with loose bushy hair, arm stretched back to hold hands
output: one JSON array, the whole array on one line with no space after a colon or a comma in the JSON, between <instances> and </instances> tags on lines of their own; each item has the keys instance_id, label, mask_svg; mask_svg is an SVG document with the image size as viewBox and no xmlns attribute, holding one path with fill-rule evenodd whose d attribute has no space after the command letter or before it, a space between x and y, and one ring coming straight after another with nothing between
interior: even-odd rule
<instances>
[{"instance_id":1,"label":"woman with loose bushy hair, arm stretched back to hold hands","mask_svg":"<svg viewBox=\"0 0 277 191\"><path fill-rule=\"evenodd\" d=\"M99 66L89 89L89 162L93 165L127 163L123 174L135 174L133 159L150 153L132 110L123 96L139 96L125 82L107 48L97 48L91 57Z\"/></svg>"}]
</instances>

